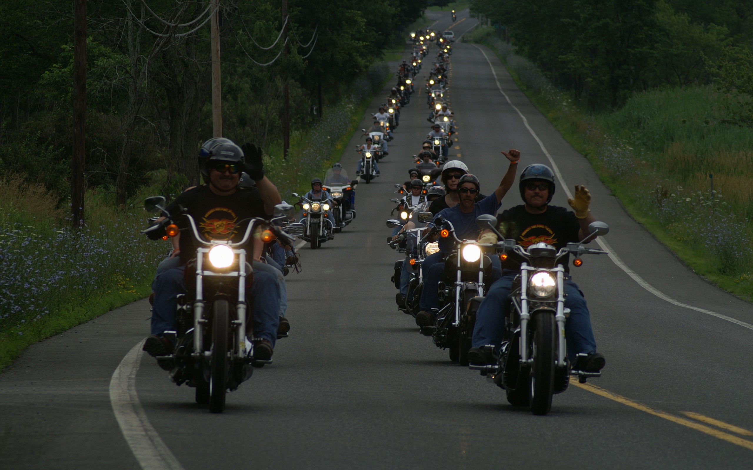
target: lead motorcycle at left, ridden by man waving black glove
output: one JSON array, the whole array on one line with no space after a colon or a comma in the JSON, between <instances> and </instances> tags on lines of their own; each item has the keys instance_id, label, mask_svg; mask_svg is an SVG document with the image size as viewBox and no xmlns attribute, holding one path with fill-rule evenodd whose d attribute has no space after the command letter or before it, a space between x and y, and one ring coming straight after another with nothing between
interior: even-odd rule
<instances>
[{"instance_id":1,"label":"lead motorcycle at left, ridden by man waving black glove","mask_svg":"<svg viewBox=\"0 0 753 470\"><path fill-rule=\"evenodd\" d=\"M274 222L290 217L294 208L276 205L275 217L270 221L261 218L243 220L248 223L245 233L241 241L233 243L205 241L193 217L182 210L170 214L165 202L162 196L146 199L147 211L159 211L166 218L141 233L164 232L175 237L181 232L176 222L186 220L187 229L183 232L188 233L183 236L191 234L198 247L195 261L186 265L189 293L179 294L177 299L176 331L171 332L175 335L175 348L172 354L157 359L172 361L172 381L177 385L195 387L197 403L208 404L212 413L221 413L227 391L236 390L251 378L253 367L272 362L253 359L253 344L246 338L248 305L245 293L252 283L253 272L242 246L258 227L264 227L261 240L265 243L280 238L293 244L294 238L276 227Z\"/></svg>"}]
</instances>

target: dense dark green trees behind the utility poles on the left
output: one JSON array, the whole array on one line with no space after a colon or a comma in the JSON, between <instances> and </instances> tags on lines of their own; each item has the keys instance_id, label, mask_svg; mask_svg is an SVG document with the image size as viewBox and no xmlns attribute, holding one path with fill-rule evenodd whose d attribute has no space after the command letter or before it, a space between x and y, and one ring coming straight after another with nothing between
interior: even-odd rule
<instances>
[{"instance_id":1,"label":"dense dark green trees behind the utility poles on the left","mask_svg":"<svg viewBox=\"0 0 753 470\"><path fill-rule=\"evenodd\" d=\"M337 107L426 3L290 0L285 57L283 41L275 44L280 2L221 2L224 135L264 147L280 141L285 81L293 131L311 128L322 111L314 107ZM195 27L208 6L89 2L87 184L115 193L119 205L157 170L166 186L199 179L197 146L212 132L211 70L209 24ZM62 204L72 145L72 24L71 2L0 5L0 174L44 183Z\"/></svg>"}]
</instances>

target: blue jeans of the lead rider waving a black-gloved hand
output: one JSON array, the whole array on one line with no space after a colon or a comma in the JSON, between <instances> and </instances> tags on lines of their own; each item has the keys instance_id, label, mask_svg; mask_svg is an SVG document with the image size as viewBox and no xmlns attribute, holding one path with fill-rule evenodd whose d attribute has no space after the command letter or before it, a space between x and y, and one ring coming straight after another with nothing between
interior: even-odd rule
<instances>
[{"instance_id":1,"label":"blue jeans of the lead rider waving a black-gloved hand","mask_svg":"<svg viewBox=\"0 0 753 470\"><path fill-rule=\"evenodd\" d=\"M184 266L172 268L163 272L151 284L154 290L154 308L151 313L151 334L162 335L166 331L175 330L175 296L187 293L183 284ZM248 329L248 336L264 338L273 345L277 340L279 326L279 290L272 274L255 271L254 282L248 293L253 296L253 318L248 322L252 329Z\"/></svg>"}]
</instances>

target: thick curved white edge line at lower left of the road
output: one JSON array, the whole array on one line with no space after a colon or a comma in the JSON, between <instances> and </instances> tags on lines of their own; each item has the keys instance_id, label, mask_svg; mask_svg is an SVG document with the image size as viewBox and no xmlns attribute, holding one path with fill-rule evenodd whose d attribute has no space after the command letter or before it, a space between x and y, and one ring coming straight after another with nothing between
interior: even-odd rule
<instances>
[{"instance_id":1,"label":"thick curved white edge line at lower left of the road","mask_svg":"<svg viewBox=\"0 0 753 470\"><path fill-rule=\"evenodd\" d=\"M136 393L136 372L144 341L139 341L120 361L110 379L112 411L133 456L144 470L184 470L149 423Z\"/></svg>"}]
</instances>

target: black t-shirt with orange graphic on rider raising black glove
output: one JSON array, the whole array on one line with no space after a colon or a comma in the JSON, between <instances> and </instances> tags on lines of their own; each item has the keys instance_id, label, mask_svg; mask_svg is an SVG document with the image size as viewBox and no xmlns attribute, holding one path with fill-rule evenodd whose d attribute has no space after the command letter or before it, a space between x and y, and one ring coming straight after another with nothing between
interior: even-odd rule
<instances>
[{"instance_id":1,"label":"black t-shirt with orange graphic on rider raising black glove","mask_svg":"<svg viewBox=\"0 0 753 470\"><path fill-rule=\"evenodd\" d=\"M174 214L178 211L178 205L183 206L194 218L199 234L207 241L228 239L240 241L248 226L247 219L270 217L264 211L264 202L255 187L239 188L230 196L218 196L212 193L209 186L205 184L181 193L167 210L170 214ZM194 235L192 232L182 230L189 227L187 218L181 217L178 220L178 226L181 228L181 263L185 264L196 257ZM249 238L245 249L251 250L252 245L253 238Z\"/></svg>"}]
</instances>

